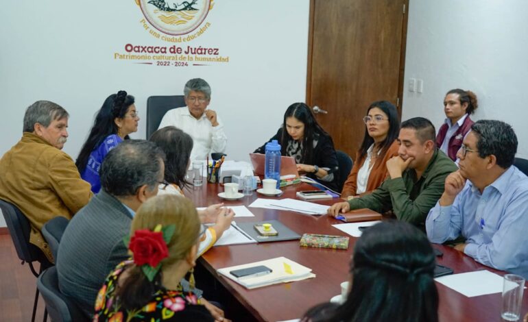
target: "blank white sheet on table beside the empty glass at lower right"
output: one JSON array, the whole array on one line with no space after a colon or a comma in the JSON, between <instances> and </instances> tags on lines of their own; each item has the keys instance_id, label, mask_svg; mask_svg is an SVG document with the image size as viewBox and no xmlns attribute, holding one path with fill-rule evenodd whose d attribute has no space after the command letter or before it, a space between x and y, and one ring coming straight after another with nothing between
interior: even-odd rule
<instances>
[{"instance_id":1,"label":"blank white sheet on table beside the empty glass at lower right","mask_svg":"<svg viewBox=\"0 0 528 322\"><path fill-rule=\"evenodd\" d=\"M485 270L441 276L435 278L435 281L466 297L502 293L503 291L503 277Z\"/></svg>"}]
</instances>

